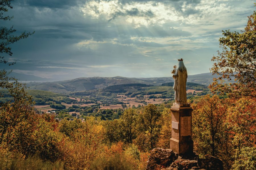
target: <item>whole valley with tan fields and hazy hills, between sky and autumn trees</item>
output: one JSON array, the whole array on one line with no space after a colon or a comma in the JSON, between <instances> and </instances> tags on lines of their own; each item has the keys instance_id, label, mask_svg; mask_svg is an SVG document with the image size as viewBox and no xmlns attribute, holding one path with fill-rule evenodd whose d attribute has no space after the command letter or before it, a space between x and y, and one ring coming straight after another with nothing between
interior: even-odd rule
<instances>
[{"instance_id":1,"label":"whole valley with tan fields and hazy hills, between sky and autumn trees","mask_svg":"<svg viewBox=\"0 0 256 170\"><path fill-rule=\"evenodd\" d=\"M190 75L187 82L187 99L192 103L208 94L209 73ZM192 82L193 81L193 82ZM201 82L194 83L194 82ZM127 108L140 108L148 104L170 105L174 102L172 77L126 78L89 77L57 82L30 82L27 92L33 96L38 113L51 113L58 120L81 120L86 116L102 120L118 119ZM207 84L207 86L205 85ZM11 99L3 91L1 102Z\"/></svg>"}]
</instances>

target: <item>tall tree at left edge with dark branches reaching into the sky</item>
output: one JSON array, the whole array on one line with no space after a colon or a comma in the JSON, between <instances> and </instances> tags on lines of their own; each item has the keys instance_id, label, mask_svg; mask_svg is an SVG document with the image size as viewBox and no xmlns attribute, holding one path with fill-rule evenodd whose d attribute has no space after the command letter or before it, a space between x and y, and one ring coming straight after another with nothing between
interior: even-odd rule
<instances>
[{"instance_id":1,"label":"tall tree at left edge with dark branches reaching into the sky","mask_svg":"<svg viewBox=\"0 0 256 170\"><path fill-rule=\"evenodd\" d=\"M13 18L8 15L4 16L5 12L13 8L11 1L0 0L0 20L8 21ZM13 26L11 28L0 27L0 63L15 64L5 59L5 55L12 56L13 54L9 45L33 34L23 32L16 36L15 31ZM12 97L10 101L0 104L0 146L6 150L23 150L22 154L26 154L26 150L30 148L24 140L31 133L30 126L33 124L31 116L34 115L31 105L34 102L32 102L32 97L25 92L26 87L15 78L9 77L9 73L5 70L0 70L0 87L7 89Z\"/></svg>"}]
</instances>

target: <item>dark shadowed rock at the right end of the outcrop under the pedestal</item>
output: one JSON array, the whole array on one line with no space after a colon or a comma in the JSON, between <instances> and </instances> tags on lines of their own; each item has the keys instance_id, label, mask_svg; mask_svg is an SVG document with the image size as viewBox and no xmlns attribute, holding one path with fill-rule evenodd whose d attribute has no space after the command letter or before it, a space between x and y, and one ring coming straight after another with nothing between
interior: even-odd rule
<instances>
[{"instance_id":1,"label":"dark shadowed rock at the right end of the outcrop under the pedestal","mask_svg":"<svg viewBox=\"0 0 256 170\"><path fill-rule=\"evenodd\" d=\"M199 159L198 164L207 170L223 170L222 160L210 155L206 155L204 159Z\"/></svg>"}]
</instances>

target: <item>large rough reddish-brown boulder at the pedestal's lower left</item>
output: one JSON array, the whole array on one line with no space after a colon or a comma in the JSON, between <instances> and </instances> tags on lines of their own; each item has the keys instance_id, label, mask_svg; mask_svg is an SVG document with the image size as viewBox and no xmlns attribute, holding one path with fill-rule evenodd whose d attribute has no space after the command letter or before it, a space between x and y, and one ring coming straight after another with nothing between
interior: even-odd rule
<instances>
[{"instance_id":1,"label":"large rough reddish-brown boulder at the pedestal's lower left","mask_svg":"<svg viewBox=\"0 0 256 170\"><path fill-rule=\"evenodd\" d=\"M171 149L154 148L147 161L147 170L166 168L178 158Z\"/></svg>"}]
</instances>

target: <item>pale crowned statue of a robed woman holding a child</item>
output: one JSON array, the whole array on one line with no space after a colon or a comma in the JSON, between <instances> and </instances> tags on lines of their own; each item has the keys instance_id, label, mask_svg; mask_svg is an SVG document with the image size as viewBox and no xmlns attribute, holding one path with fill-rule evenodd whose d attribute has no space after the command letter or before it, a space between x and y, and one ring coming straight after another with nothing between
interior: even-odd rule
<instances>
[{"instance_id":1,"label":"pale crowned statue of a robed woman holding a child","mask_svg":"<svg viewBox=\"0 0 256 170\"><path fill-rule=\"evenodd\" d=\"M178 59L179 65L176 69L174 77L174 90L175 90L175 103L177 104L187 104L187 69L183 63L183 59Z\"/></svg>"}]
</instances>

